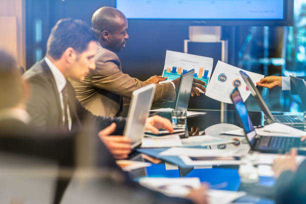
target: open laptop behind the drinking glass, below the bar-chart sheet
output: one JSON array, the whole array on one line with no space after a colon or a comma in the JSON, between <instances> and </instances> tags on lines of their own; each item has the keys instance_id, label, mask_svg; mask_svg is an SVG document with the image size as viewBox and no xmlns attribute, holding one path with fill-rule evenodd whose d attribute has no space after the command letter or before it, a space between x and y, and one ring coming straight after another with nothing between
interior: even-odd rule
<instances>
[{"instance_id":1,"label":"open laptop behind the drinking glass, below the bar-chart sheet","mask_svg":"<svg viewBox=\"0 0 306 204\"><path fill-rule=\"evenodd\" d=\"M175 110L187 110L190 92L193 82L194 69L181 74L179 80L178 91L175 99ZM171 112L156 112L152 115L157 114L171 120Z\"/></svg>"}]
</instances>

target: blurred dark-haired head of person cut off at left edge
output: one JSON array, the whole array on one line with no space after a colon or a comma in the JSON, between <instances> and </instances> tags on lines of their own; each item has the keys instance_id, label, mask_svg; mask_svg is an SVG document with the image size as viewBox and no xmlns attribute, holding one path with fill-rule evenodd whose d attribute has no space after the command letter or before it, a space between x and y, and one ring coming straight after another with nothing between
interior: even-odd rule
<instances>
[{"instance_id":1,"label":"blurred dark-haired head of person cut off at left edge","mask_svg":"<svg viewBox=\"0 0 306 204\"><path fill-rule=\"evenodd\" d=\"M23 85L16 61L0 49L0 109L16 106L22 97Z\"/></svg>"}]
</instances>

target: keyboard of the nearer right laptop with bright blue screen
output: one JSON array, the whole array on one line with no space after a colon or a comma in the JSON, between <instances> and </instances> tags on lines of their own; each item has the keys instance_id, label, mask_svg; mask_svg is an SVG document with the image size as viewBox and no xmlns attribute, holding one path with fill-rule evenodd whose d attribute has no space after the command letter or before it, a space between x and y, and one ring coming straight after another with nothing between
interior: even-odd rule
<instances>
[{"instance_id":1,"label":"keyboard of the nearer right laptop with bright blue screen","mask_svg":"<svg viewBox=\"0 0 306 204\"><path fill-rule=\"evenodd\" d=\"M293 146L298 146L299 142L300 139L297 137L271 136L269 137L268 147L273 149L290 149Z\"/></svg>"}]
</instances>

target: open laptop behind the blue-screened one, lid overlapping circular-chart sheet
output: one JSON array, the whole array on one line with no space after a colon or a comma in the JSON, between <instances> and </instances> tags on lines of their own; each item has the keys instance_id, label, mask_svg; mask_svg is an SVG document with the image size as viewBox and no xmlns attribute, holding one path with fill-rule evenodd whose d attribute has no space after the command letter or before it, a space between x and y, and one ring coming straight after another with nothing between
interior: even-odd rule
<instances>
[{"instance_id":1,"label":"open laptop behind the blue-screened one, lid overlapping circular-chart sheet","mask_svg":"<svg viewBox=\"0 0 306 204\"><path fill-rule=\"evenodd\" d=\"M303 121L298 118L297 115L272 115L269 108L266 106L264 100L262 99L258 89L254 85L253 81L245 73L244 71L239 71L241 77L243 78L244 82L247 85L247 88L250 90L251 94L254 96L256 102L258 103L260 109L264 113L264 118L266 119L267 123L274 123L279 122L286 125L290 125L295 128L303 128Z\"/></svg>"}]
</instances>

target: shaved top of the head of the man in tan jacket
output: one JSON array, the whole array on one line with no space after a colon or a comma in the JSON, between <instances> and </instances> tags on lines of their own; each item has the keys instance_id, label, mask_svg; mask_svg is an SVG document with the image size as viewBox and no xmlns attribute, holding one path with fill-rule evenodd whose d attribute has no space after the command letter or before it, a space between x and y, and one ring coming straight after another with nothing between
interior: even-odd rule
<instances>
[{"instance_id":1,"label":"shaved top of the head of the man in tan jacket","mask_svg":"<svg viewBox=\"0 0 306 204\"><path fill-rule=\"evenodd\" d=\"M125 21L125 15L118 9L104 6L97 9L91 18L91 26L95 31L108 30L113 32Z\"/></svg>"}]
</instances>

